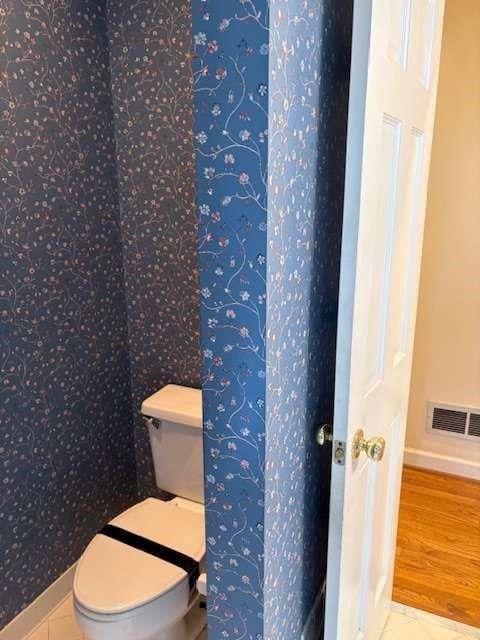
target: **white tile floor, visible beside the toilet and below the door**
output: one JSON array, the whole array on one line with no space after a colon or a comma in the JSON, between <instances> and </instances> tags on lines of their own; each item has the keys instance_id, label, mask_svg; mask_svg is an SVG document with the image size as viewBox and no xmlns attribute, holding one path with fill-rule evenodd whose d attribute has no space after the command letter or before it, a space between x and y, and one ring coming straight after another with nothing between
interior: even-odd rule
<instances>
[{"instance_id":1,"label":"white tile floor, visible beside the toilet and below the door","mask_svg":"<svg viewBox=\"0 0 480 640\"><path fill-rule=\"evenodd\" d=\"M472 629L424 611L393 605L381 640L478 640L480 629ZM69 596L25 640L84 640L73 615ZM197 640L207 640L204 631Z\"/></svg>"}]
</instances>

